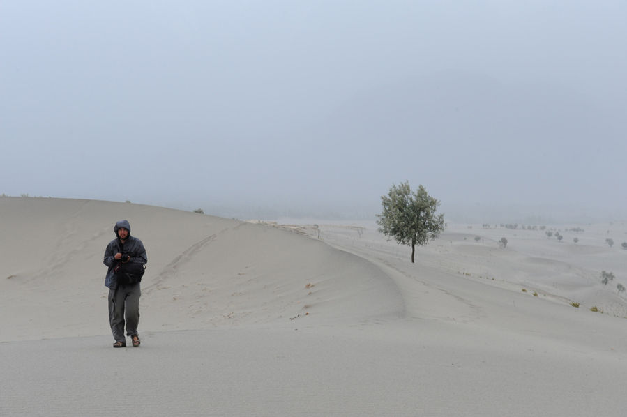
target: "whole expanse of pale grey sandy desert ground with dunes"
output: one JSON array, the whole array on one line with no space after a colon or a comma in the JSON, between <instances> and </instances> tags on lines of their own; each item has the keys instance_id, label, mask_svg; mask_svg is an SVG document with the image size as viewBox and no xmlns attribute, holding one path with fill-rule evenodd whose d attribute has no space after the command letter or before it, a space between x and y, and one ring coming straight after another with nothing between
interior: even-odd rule
<instances>
[{"instance_id":1,"label":"whole expanse of pale grey sandy desert ground with dunes","mask_svg":"<svg viewBox=\"0 0 627 417\"><path fill-rule=\"evenodd\" d=\"M138 349L103 287L123 218ZM625 415L625 224L449 225L411 264L374 222L281 223L0 198L0 415Z\"/></svg>"}]
</instances>

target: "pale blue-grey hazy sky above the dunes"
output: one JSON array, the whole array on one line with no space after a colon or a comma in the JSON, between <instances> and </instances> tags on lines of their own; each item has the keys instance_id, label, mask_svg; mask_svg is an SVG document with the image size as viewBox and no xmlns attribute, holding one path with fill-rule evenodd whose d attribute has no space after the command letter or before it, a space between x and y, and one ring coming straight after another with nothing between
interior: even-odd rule
<instances>
[{"instance_id":1,"label":"pale blue-grey hazy sky above the dunes","mask_svg":"<svg viewBox=\"0 0 627 417\"><path fill-rule=\"evenodd\" d=\"M0 194L368 215L408 180L457 215L624 215L625 22L605 0L3 0Z\"/></svg>"}]
</instances>

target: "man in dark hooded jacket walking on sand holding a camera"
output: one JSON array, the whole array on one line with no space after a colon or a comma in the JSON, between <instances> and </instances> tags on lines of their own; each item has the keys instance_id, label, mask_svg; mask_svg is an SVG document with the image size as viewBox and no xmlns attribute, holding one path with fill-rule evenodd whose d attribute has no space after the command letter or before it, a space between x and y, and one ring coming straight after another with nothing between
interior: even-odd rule
<instances>
[{"instance_id":1,"label":"man in dark hooded jacket walking on sand holding a camera","mask_svg":"<svg viewBox=\"0 0 627 417\"><path fill-rule=\"evenodd\" d=\"M124 335L130 336L133 346L139 347L139 296L140 282L148 262L144 243L130 236L128 220L116 222L114 238L105 249L104 264L109 267L105 286L109 288L109 324L115 343L113 347L126 347Z\"/></svg>"}]
</instances>

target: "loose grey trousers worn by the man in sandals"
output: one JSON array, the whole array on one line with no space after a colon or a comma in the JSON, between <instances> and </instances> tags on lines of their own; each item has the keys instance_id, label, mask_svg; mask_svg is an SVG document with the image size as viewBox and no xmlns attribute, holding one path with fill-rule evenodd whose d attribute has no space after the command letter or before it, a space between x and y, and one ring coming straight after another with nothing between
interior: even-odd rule
<instances>
[{"instance_id":1,"label":"loose grey trousers worn by the man in sandals","mask_svg":"<svg viewBox=\"0 0 627 417\"><path fill-rule=\"evenodd\" d=\"M126 343L124 336L124 319L126 318L126 334L137 335L139 324L139 296L142 290L139 282L133 285L118 285L109 289L109 323L116 342Z\"/></svg>"}]
</instances>

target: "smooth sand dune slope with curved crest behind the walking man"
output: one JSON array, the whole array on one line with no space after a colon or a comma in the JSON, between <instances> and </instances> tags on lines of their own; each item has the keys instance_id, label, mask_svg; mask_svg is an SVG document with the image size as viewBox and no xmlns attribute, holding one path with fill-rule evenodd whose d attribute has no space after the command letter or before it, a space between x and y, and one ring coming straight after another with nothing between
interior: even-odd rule
<instances>
[{"instance_id":1,"label":"smooth sand dune slope with curved crest behind the walking man","mask_svg":"<svg viewBox=\"0 0 627 417\"><path fill-rule=\"evenodd\" d=\"M372 264L292 232L136 204L0 199L1 340L106 334L105 246L126 218L149 264L144 331L308 316L400 314L400 294ZM363 310L363 298L377 296ZM15 307L27 314L15 315Z\"/></svg>"}]
</instances>

